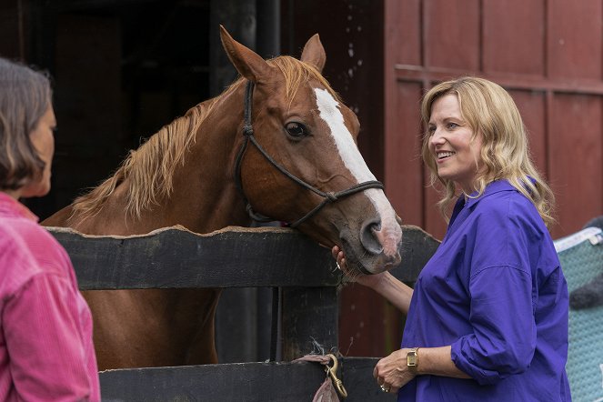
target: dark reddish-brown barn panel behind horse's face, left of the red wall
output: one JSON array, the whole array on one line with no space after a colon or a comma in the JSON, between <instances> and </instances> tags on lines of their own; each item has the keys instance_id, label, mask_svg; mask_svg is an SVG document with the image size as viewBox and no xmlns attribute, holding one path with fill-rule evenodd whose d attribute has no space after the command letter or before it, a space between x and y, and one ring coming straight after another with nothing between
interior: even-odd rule
<instances>
[{"instance_id":1,"label":"dark reddish-brown barn panel behind horse's face, left of the red wall","mask_svg":"<svg viewBox=\"0 0 603 402\"><path fill-rule=\"evenodd\" d=\"M327 52L323 75L360 120L358 146L383 178L383 9L374 0L282 1L282 54L301 55L314 34Z\"/></svg>"}]
</instances>

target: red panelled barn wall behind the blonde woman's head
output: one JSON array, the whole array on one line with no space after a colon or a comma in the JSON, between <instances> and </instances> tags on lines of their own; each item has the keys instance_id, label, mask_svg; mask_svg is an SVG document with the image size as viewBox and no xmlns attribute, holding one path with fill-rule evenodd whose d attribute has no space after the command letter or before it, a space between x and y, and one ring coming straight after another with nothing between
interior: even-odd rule
<instances>
[{"instance_id":1,"label":"red panelled barn wall behind the blonde woman's head","mask_svg":"<svg viewBox=\"0 0 603 402\"><path fill-rule=\"evenodd\" d=\"M601 2L387 0L385 8L385 180L407 223L444 235L437 194L420 175L418 103L438 81L462 75L491 79L516 100L557 196L554 237L603 213Z\"/></svg>"}]
</instances>

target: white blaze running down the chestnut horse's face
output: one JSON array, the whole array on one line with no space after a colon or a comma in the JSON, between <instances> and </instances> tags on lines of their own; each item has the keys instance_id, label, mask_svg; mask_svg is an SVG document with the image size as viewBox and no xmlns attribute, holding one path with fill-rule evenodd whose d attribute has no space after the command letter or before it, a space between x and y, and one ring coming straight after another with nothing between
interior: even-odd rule
<instances>
[{"instance_id":1,"label":"white blaze running down the chestnut horse's face","mask_svg":"<svg viewBox=\"0 0 603 402\"><path fill-rule=\"evenodd\" d=\"M335 98L326 89L315 88L317 95L317 106L320 117L325 120L331 130L331 136L337 146L339 156L352 176L356 177L357 183L369 180L377 180L368 169L367 163L360 155L354 139L344 124L344 116L341 114L340 106ZM371 188L364 191L370 199L377 213L381 217L381 232L378 238L387 256L397 253L397 245L402 237L402 229L397 224L396 212L389 204L382 190Z\"/></svg>"}]
</instances>

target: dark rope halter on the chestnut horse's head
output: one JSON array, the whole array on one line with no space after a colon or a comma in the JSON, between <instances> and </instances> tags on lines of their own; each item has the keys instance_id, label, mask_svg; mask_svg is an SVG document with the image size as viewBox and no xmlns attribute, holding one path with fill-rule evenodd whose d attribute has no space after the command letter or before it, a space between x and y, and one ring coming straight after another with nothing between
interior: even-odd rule
<instances>
[{"instance_id":1,"label":"dark rope halter on the chestnut horse's head","mask_svg":"<svg viewBox=\"0 0 603 402\"><path fill-rule=\"evenodd\" d=\"M370 181L366 181L364 183L357 184L356 186L351 186L351 187L347 188L347 190L338 191L336 193L324 192L324 191L317 189L314 186L307 184L304 180L300 179L299 177L293 176L291 173L289 173L286 170L285 167L280 166L274 160L274 158L272 158L272 156L268 155L268 153L266 152L266 149L264 149L264 147L262 147L257 142L256 137L254 136L254 129L253 129L253 126L251 126L251 110L252 110L251 106L253 103L254 86L255 85L253 82L251 82L251 81L247 82L246 91L245 91L245 116L244 116L245 125L243 126L243 135L245 136L245 141L239 148L238 154L236 155L236 161L235 161L236 188L238 189L241 196L243 196L243 200L246 203L247 213L249 214L249 216L252 219L254 219L257 222L269 222L269 221L275 220L268 216L263 216L261 214L257 214L251 207L251 204L249 203L249 201L247 200L247 198L243 192L243 184L241 181L241 163L243 162L243 156L245 156L245 151L246 151L247 144L249 143L249 141L251 141L251 143L254 146L256 146L256 148L260 152L260 154L262 154L266 158L266 160L268 162L270 162L272 164L272 166L275 166L276 169L278 169L278 171L280 171L283 175L287 176L288 178L290 178L291 180L296 182L299 186L303 186L303 187L307 188L308 190L314 192L318 196L322 196L324 198L324 200L322 202L320 202L317 206L315 206L305 216L302 216L301 218L297 219L295 222L289 224L288 226L290 226L290 227L296 227L296 226L301 225L302 223L306 222L307 219L309 219L310 217L315 216L318 213L318 211L320 211L320 209L322 209L323 206L326 206L327 204L332 204L341 198L351 196L353 194L359 193L359 192L367 190L369 188L383 189L383 184L381 182L379 182L377 180L370 180Z\"/></svg>"}]
</instances>

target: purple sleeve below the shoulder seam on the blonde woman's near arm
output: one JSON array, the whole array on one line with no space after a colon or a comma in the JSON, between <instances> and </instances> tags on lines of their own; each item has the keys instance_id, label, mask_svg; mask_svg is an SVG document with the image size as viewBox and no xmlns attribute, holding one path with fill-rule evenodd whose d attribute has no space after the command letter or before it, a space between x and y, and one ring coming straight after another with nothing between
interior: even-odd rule
<instances>
[{"instance_id":1,"label":"purple sleeve below the shoulder seam on the blonde woman's near arm","mask_svg":"<svg viewBox=\"0 0 603 402\"><path fill-rule=\"evenodd\" d=\"M490 266L470 279L473 333L452 344L452 360L480 385L524 372L534 356L536 324L529 274Z\"/></svg>"}]
</instances>

